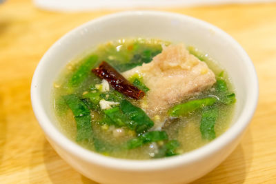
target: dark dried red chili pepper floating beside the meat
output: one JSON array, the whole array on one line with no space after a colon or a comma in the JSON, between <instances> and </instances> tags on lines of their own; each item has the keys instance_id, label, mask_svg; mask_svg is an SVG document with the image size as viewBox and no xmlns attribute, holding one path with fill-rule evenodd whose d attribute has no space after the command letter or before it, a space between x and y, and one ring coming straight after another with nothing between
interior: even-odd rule
<instances>
[{"instance_id":1,"label":"dark dried red chili pepper floating beside the meat","mask_svg":"<svg viewBox=\"0 0 276 184\"><path fill-rule=\"evenodd\" d=\"M129 96L132 99L139 100L145 96L145 93L142 90L139 90L137 87L132 85L132 83L119 74L119 72L112 68L111 65L106 63L106 61L101 62L98 68L92 69L92 72L99 78L108 81L108 83L110 83L115 90Z\"/></svg>"}]
</instances>

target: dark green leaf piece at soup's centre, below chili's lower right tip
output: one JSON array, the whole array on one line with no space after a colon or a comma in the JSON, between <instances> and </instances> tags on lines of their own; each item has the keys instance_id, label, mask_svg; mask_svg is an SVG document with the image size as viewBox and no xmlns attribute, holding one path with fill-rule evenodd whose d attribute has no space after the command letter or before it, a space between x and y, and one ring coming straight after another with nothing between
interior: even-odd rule
<instances>
[{"instance_id":1,"label":"dark green leaf piece at soup's centre, below chili's lower right tip","mask_svg":"<svg viewBox=\"0 0 276 184\"><path fill-rule=\"evenodd\" d=\"M127 100L123 100L120 103L121 111L126 114L129 119L133 121L133 127L135 132L137 133L144 133L147 132L150 127L154 125L153 121L148 117L148 115L144 112L144 110L141 110L141 108L138 108L135 105L132 105Z\"/></svg>"}]
</instances>

